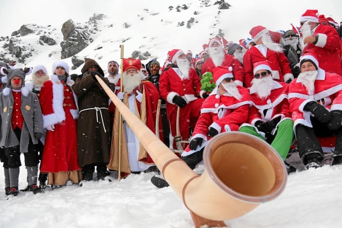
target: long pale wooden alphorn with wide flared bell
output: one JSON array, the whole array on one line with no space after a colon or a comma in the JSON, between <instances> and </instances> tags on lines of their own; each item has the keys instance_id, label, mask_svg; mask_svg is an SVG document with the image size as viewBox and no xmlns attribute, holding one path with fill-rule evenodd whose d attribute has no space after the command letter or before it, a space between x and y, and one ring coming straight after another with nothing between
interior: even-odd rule
<instances>
[{"instance_id":1,"label":"long pale wooden alphorn with wide flared bell","mask_svg":"<svg viewBox=\"0 0 342 228\"><path fill-rule=\"evenodd\" d=\"M284 190L287 171L278 153L266 142L247 133L218 134L204 150L206 170L197 175L129 111L100 77L96 78L165 180L195 214L217 221L237 218Z\"/></svg>"}]
</instances>

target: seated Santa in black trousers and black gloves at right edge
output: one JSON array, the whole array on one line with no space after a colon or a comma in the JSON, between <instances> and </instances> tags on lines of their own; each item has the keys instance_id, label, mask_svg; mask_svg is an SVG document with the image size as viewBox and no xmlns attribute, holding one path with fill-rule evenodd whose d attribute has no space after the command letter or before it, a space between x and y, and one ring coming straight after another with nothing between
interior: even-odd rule
<instances>
[{"instance_id":1,"label":"seated Santa in black trousers and black gloves at right edge","mask_svg":"<svg viewBox=\"0 0 342 228\"><path fill-rule=\"evenodd\" d=\"M301 73L288 95L299 156L306 169L321 167L321 143L335 135L335 145L326 145L326 152L333 151L332 165L342 164L342 77L322 70L313 52L304 53L299 64Z\"/></svg>"}]
</instances>

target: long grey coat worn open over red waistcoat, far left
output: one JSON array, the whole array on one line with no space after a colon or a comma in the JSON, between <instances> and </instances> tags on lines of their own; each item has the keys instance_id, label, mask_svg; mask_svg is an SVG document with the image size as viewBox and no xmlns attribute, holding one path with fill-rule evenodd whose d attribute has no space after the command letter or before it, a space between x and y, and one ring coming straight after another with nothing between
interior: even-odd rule
<instances>
[{"instance_id":1,"label":"long grey coat worn open over red waistcoat, far left","mask_svg":"<svg viewBox=\"0 0 342 228\"><path fill-rule=\"evenodd\" d=\"M12 112L14 98L12 90L5 88L0 93L0 147L14 147L20 145L20 152L27 152L29 139L31 137L33 144L37 144L34 133L43 133L43 114L39 104L38 96L27 88L21 88L21 114L23 116L23 125L21 129L20 142L12 130Z\"/></svg>"}]
</instances>

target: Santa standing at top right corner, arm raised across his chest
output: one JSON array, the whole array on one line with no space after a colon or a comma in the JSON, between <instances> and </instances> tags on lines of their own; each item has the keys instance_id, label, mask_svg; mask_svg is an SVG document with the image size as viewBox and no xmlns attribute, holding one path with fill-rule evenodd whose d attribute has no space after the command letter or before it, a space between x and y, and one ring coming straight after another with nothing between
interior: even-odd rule
<instances>
[{"instance_id":1,"label":"Santa standing at top right corner, arm raised across his chest","mask_svg":"<svg viewBox=\"0 0 342 228\"><path fill-rule=\"evenodd\" d=\"M300 16L303 51L312 51L319 58L320 68L342 75L340 50L342 41L336 29L330 25L319 23L317 10L306 10Z\"/></svg>"}]
</instances>

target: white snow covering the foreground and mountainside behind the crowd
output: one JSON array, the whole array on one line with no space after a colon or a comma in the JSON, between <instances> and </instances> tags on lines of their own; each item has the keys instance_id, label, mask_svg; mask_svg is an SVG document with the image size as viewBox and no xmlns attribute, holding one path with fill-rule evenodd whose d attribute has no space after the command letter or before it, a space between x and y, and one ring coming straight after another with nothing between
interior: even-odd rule
<instances>
[{"instance_id":1,"label":"white snow covering the foreground and mountainside behind the crowd","mask_svg":"<svg viewBox=\"0 0 342 228\"><path fill-rule=\"evenodd\" d=\"M125 57L134 50L149 51L163 63L173 48L199 53L203 43L218 33L227 40L238 42L250 37L249 30L263 25L270 30L291 29L299 25L299 17L306 9L318 9L321 14L342 20L342 3L338 0L287 0L283 2L259 0L226 0L229 10L218 14L215 0L4 0L1 2L0 36L10 36L22 24L36 23L56 27L51 36L62 41L61 25L67 19L85 22L93 13L103 13L107 19L99 21L100 32L80 57L94 58L107 72L109 60L120 60L119 45L125 43ZM206 7L207 2L210 6ZM169 11L169 6L187 4L189 9ZM146 10L147 9L147 10ZM194 11L199 12L194 15ZM177 26L193 17L190 29ZM143 18L143 19L142 19ZM131 26L123 27L124 22ZM112 26L109 26L112 24ZM32 42L36 55L26 65L44 64L49 73L52 63L59 60L61 47L40 46L33 36L22 37ZM2 44L1 44L2 45ZM102 46L102 49L95 50ZM55 53L47 57L49 53ZM71 66L71 58L64 59ZM149 61L145 60L144 63ZM23 66L23 64L18 64ZM82 67L82 66L81 66ZM80 69L71 73L80 73ZM301 170L300 164L298 165ZM129 175L113 182L94 181L83 187L64 186L47 189L44 194L21 192L7 200L0 169L0 228L45 227L115 227L115 228L188 228L192 218L171 187L157 189L150 183L155 173ZM26 186L26 170L21 167L20 189ZM316 170L300 171L288 176L283 193L275 200L259 205L250 213L230 221L231 228L340 228L342 227L342 165L325 165ZM2 196L1 196L2 195ZM234 205L227 205L234 207Z\"/></svg>"}]
</instances>

